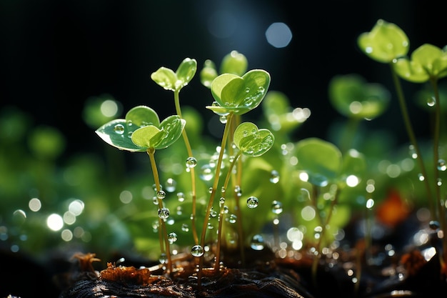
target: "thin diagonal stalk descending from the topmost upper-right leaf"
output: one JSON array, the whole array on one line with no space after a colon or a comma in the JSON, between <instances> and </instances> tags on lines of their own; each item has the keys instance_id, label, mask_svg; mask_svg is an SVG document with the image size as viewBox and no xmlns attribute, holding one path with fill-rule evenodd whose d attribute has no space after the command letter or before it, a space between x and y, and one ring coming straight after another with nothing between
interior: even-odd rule
<instances>
[{"instance_id":1,"label":"thin diagonal stalk descending from the topmost upper-right leaf","mask_svg":"<svg viewBox=\"0 0 447 298\"><path fill-rule=\"evenodd\" d=\"M423 183L426 187L426 192L427 192L427 197L428 197L428 206L430 207L431 214L432 214L431 216L436 217L436 209L433 207L433 201L432 201L433 197L431 194L430 184L428 184L426 167L423 164L421 149L419 149L418 142L416 141L416 136L414 135L413 126L411 126L410 116L408 116L408 109L406 107L405 98L403 96L401 81L399 81L396 71L393 70L393 64L390 64L390 66L391 66L391 74L393 76L394 86L396 88L396 92L398 95L399 105L401 107L403 123L405 124L405 128L406 128L408 137L410 139L410 142L414 146L414 149L416 151L416 154L417 154L416 159L418 161L419 167L421 168L421 174L423 175Z\"/></svg>"}]
</instances>

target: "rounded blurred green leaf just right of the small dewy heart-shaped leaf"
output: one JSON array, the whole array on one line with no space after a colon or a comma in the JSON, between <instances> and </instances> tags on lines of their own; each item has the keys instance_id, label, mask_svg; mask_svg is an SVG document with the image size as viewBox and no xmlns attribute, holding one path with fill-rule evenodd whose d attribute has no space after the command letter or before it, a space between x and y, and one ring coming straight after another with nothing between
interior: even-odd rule
<instances>
[{"instance_id":1,"label":"rounded blurred green leaf just right of the small dewy heart-shaped leaf","mask_svg":"<svg viewBox=\"0 0 447 298\"><path fill-rule=\"evenodd\" d=\"M308 182L325 187L334 181L341 171L342 158L338 148L328 141L308 138L296 144L298 169L308 174Z\"/></svg>"}]
</instances>

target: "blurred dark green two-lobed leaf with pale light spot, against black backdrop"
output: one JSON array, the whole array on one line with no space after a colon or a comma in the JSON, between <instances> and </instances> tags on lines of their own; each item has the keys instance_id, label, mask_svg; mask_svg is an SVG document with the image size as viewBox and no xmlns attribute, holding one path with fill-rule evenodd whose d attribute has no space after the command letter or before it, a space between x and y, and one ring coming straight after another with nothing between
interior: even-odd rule
<instances>
[{"instance_id":1,"label":"blurred dark green two-lobed leaf with pale light spot, against black backdrop","mask_svg":"<svg viewBox=\"0 0 447 298\"><path fill-rule=\"evenodd\" d=\"M368 84L357 74L334 76L328 89L333 107L349 118L371 120L380 116L391 96L381 84Z\"/></svg>"}]
</instances>

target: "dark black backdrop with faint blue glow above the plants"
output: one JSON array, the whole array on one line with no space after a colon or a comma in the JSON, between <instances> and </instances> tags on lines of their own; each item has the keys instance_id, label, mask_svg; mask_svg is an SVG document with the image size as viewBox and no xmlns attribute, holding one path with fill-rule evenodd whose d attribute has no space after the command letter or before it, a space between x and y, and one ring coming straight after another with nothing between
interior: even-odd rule
<instances>
[{"instance_id":1,"label":"dark black backdrop with faint blue glow above the plants","mask_svg":"<svg viewBox=\"0 0 447 298\"><path fill-rule=\"evenodd\" d=\"M436 1L408 0L3 0L0 106L18 106L34 123L56 126L70 152L90 148L99 141L81 119L86 99L110 94L124 112L146 104L166 116L174 102L151 81L151 72L160 66L175 70L185 57L195 58L201 69L206 59L219 64L237 50L246 55L249 69L270 72L271 90L283 91L294 107L311 109L297 137L326 138L339 116L328 104L331 77L359 73L371 82L391 83L388 66L358 50L358 35L384 19L406 32L411 51L423 43L442 47L447 29L442 14ZM286 28L273 34L276 45L266 37L272 24ZM212 101L199 79L181 96L183 104L200 111ZM396 113L393 100L380 121L368 125L393 129L406 141ZM211 112L204 111L207 116ZM416 129L427 132L424 126Z\"/></svg>"}]
</instances>

